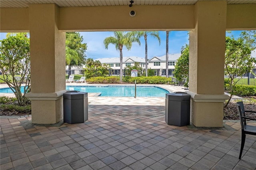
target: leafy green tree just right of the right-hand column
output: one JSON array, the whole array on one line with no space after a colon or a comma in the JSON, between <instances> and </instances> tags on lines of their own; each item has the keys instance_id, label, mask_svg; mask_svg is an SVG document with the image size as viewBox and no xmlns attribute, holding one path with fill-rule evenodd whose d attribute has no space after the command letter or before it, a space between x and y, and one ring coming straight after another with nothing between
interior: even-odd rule
<instances>
[{"instance_id":1,"label":"leafy green tree just right of the right-hand column","mask_svg":"<svg viewBox=\"0 0 256 170\"><path fill-rule=\"evenodd\" d=\"M256 63L256 59L250 55L251 49L250 43L246 43L243 38L235 40L234 38L226 37L225 75L228 75L227 90L230 92L230 99L233 95L234 85ZM225 107L230 102L230 99L226 102Z\"/></svg>"}]
</instances>

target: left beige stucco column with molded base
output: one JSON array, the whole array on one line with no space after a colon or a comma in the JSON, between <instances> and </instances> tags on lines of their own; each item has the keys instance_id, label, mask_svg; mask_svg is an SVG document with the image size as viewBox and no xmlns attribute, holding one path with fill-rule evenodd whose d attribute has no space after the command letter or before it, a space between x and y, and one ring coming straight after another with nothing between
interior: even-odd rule
<instances>
[{"instance_id":1,"label":"left beige stucco column with molded base","mask_svg":"<svg viewBox=\"0 0 256 170\"><path fill-rule=\"evenodd\" d=\"M55 4L30 4L32 123L53 124L63 119L65 92L65 32L58 30Z\"/></svg>"}]
</instances>

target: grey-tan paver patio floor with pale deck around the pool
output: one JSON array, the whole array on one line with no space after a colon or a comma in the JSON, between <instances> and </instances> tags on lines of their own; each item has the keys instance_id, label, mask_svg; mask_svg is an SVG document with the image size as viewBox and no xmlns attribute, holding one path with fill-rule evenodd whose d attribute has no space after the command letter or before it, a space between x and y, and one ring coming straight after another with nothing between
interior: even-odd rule
<instances>
[{"instance_id":1,"label":"grey-tan paver patio floor with pale deck around the pool","mask_svg":"<svg viewBox=\"0 0 256 170\"><path fill-rule=\"evenodd\" d=\"M182 86L160 86L185 91ZM165 122L164 97L88 99L85 123L38 125L31 116L1 116L0 169L256 169L255 136L246 136L238 159L239 121L223 121L219 128L177 127Z\"/></svg>"}]
</instances>

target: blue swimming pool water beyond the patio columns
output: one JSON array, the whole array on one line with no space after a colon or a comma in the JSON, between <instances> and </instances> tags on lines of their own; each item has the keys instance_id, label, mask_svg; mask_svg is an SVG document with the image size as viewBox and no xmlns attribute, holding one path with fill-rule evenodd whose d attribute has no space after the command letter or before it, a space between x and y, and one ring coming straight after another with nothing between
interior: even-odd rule
<instances>
[{"instance_id":1,"label":"blue swimming pool water beyond the patio columns","mask_svg":"<svg viewBox=\"0 0 256 170\"><path fill-rule=\"evenodd\" d=\"M77 90L87 93L101 93L102 97L134 97L134 86L66 86L66 90ZM21 88L22 93L24 89ZM0 93L13 93L10 88L0 89ZM156 86L136 86L136 97L165 97L169 91Z\"/></svg>"}]
</instances>

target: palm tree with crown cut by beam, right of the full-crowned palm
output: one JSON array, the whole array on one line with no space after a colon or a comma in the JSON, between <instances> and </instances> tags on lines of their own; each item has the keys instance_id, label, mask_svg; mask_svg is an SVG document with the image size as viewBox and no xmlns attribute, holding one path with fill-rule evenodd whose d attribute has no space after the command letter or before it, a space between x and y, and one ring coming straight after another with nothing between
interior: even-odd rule
<instances>
[{"instance_id":1,"label":"palm tree with crown cut by beam, right of the full-crowned palm","mask_svg":"<svg viewBox=\"0 0 256 170\"><path fill-rule=\"evenodd\" d=\"M146 71L146 76L148 76L148 42L147 42L147 37L151 36L153 38L156 38L159 41L160 45L160 37L159 37L159 32L158 31L138 31L136 32L138 38L141 38L144 36L145 40L145 71Z\"/></svg>"}]
</instances>

